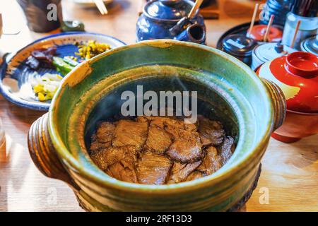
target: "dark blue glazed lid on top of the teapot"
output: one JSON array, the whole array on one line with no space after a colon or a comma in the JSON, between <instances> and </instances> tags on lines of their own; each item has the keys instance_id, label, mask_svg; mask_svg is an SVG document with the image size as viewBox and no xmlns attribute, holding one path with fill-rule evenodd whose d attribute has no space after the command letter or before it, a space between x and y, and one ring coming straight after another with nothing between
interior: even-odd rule
<instances>
[{"instance_id":1,"label":"dark blue glazed lid on top of the teapot","mask_svg":"<svg viewBox=\"0 0 318 226\"><path fill-rule=\"evenodd\" d=\"M158 20L179 20L189 14L193 5L189 0L154 0L146 4L143 13Z\"/></svg>"}]
</instances>

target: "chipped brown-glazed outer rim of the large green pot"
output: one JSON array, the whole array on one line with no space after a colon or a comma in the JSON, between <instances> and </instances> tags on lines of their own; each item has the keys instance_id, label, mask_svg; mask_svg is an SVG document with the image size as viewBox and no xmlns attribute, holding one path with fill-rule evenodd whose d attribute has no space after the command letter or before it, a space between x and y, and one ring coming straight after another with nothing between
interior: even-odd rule
<instances>
[{"instance_id":1,"label":"chipped brown-glazed outer rim of the large green pot","mask_svg":"<svg viewBox=\"0 0 318 226\"><path fill-rule=\"evenodd\" d=\"M240 66L240 68L245 71L247 74L252 75L251 78L254 81L254 83L257 84L257 87L261 89L262 92L264 92L264 95L266 96L266 100L268 101L267 104L271 106L271 95L269 94L269 90L267 90L266 85L261 82L261 80L257 77L257 75L252 71L252 69L249 68L246 64L242 63L242 61L236 59L235 57L230 56L229 54L226 54L225 52L222 52L218 49L207 47L201 44L196 44L192 42L182 42L177 40L147 40L143 42L137 42L135 44L129 44L124 47L118 47L116 49L111 49L108 52L105 52L103 54L100 54L96 57L93 57L92 59L89 59L88 61L85 61L82 64L79 64L76 66L76 69L83 66L83 64L91 64L94 61L98 61L99 59L109 55L113 54L115 52L123 51L124 49L129 49L132 47L139 47L143 45L152 46L152 47L169 47L173 44L187 46L187 47L194 47L203 49L208 52L212 52L213 54L218 54L220 57L223 57L225 60L231 61L232 64L235 64L236 66ZM61 90L63 90L64 86L71 82L80 83L82 79L81 76L78 77L78 74L76 76L73 76L71 78L71 75L73 73L76 73L76 69L71 71L62 81L62 84L59 86L56 95L54 95L54 98L52 100L52 105L49 108L49 136L52 139L52 143L54 145L54 148L57 150L57 154L59 155L60 160L64 163L64 165L67 165L67 167L70 167L73 169L73 171L78 172L81 174L82 177L87 178L91 182L94 182L95 184L100 184L101 186L105 187L111 187L113 189L119 189L121 191L133 191L134 193L144 193L144 192L150 192L151 194L171 194L172 192L184 192L184 191L191 191L193 189L207 186L213 183L222 182L223 179L232 177L234 174L239 172L240 170L247 169L247 167L251 166L250 161L253 159L259 157L260 152L264 150L264 147L266 147L271 131L273 129L273 111L271 110L271 107L269 107L267 110L269 112L268 115L268 121L264 121L266 124L266 128L263 129L263 132L259 134L259 137L257 140L254 141L254 143L251 145L249 152L245 155L245 157L242 157L240 161L235 162L235 164L232 164L228 169L225 170L218 170L214 174L211 174L206 177L202 177L200 179L195 179L190 182L181 182L178 184L164 184L164 185L155 185L155 184L135 184L135 183L129 183L129 182L122 182L119 180L114 180L112 177L108 176L107 174L103 174L102 177L94 174L92 170L86 169L85 167L81 167L81 165L78 163L78 160L76 160L75 157L69 152L68 148L64 145L64 141L61 139L61 136L57 132L57 125L54 124L54 114L57 112L56 105L59 102L59 95L61 94ZM92 163L93 164L93 163ZM228 163L227 163L228 164ZM226 164L225 164L226 165Z\"/></svg>"}]
</instances>

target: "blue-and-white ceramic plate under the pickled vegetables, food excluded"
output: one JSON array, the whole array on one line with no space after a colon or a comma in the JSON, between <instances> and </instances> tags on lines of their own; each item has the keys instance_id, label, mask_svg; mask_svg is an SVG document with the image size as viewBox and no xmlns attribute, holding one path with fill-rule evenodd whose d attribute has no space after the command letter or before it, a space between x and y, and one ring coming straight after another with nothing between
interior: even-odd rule
<instances>
[{"instance_id":1,"label":"blue-and-white ceramic plate under the pickled vegetables, food excluded","mask_svg":"<svg viewBox=\"0 0 318 226\"><path fill-rule=\"evenodd\" d=\"M0 67L0 93L7 100L20 107L47 111L50 100L40 102L33 93L32 81L37 76L45 73L57 73L55 69L40 68L37 73L25 65L26 59L34 49L56 46L58 57L72 56L78 48L73 45L74 42L96 40L110 44L112 49L121 47L124 42L107 35L91 32L65 32L56 35L42 37L40 40L28 44L18 52L8 54L4 63Z\"/></svg>"}]
</instances>

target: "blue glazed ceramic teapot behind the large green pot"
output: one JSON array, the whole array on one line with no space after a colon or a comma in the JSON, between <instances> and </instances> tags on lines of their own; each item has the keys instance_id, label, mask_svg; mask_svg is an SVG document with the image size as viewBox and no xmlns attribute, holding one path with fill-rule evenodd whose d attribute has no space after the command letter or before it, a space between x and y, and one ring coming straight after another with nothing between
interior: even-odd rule
<instances>
[{"instance_id":1,"label":"blue glazed ceramic teapot behind the large green pot","mask_svg":"<svg viewBox=\"0 0 318 226\"><path fill-rule=\"evenodd\" d=\"M190 0L153 0L143 8L137 21L137 42L173 39L205 44L204 18L196 12L187 18L194 6Z\"/></svg>"}]
</instances>

